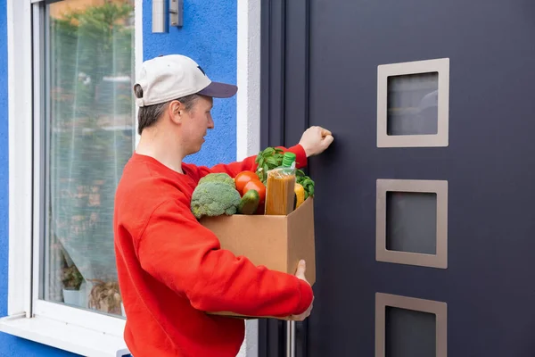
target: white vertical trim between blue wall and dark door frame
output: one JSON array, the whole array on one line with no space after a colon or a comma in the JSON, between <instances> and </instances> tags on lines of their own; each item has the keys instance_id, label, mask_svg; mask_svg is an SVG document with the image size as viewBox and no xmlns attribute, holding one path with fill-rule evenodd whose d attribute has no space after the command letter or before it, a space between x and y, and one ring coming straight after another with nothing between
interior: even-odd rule
<instances>
[{"instance_id":1,"label":"white vertical trim between blue wall and dark door frame","mask_svg":"<svg viewBox=\"0 0 535 357\"><path fill-rule=\"evenodd\" d=\"M236 160L260 150L260 9L259 0L237 2ZM247 320L238 357L258 355L258 320Z\"/></svg>"}]
</instances>

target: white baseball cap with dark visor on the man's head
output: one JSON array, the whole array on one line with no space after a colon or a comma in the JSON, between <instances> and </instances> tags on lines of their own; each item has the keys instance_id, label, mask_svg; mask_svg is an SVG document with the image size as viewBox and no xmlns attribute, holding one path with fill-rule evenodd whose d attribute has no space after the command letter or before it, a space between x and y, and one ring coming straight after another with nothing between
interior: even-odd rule
<instances>
[{"instance_id":1,"label":"white baseball cap with dark visor on the man's head","mask_svg":"<svg viewBox=\"0 0 535 357\"><path fill-rule=\"evenodd\" d=\"M193 94L228 98L238 90L234 85L212 82L197 62L181 54L161 55L143 62L137 84L143 89L143 97L136 97L140 107Z\"/></svg>"}]
</instances>

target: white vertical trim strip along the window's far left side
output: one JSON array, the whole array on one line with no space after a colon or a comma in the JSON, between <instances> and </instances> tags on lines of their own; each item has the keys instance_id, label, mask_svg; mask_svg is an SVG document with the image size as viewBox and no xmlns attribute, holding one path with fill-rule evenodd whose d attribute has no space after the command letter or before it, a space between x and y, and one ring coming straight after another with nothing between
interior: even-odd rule
<instances>
[{"instance_id":1,"label":"white vertical trim strip along the window's far left side","mask_svg":"<svg viewBox=\"0 0 535 357\"><path fill-rule=\"evenodd\" d=\"M17 40L15 41L15 38ZM7 0L9 150L8 315L31 308L32 42L31 4Z\"/></svg>"}]
</instances>

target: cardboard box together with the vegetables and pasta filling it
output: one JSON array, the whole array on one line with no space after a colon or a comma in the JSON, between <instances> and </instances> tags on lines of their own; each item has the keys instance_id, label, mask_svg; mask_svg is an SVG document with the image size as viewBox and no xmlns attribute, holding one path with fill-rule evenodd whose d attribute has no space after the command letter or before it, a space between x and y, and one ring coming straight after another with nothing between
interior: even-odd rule
<instances>
[{"instance_id":1,"label":"cardboard box together with the vegetables and pasta filling it","mask_svg":"<svg viewBox=\"0 0 535 357\"><path fill-rule=\"evenodd\" d=\"M202 178L193 191L191 210L218 237L222 249L257 266L295 274L304 259L305 277L313 285L314 181L295 168L295 154L278 148L260 152L256 162L255 172L240 172L235 179L226 173Z\"/></svg>"}]
</instances>

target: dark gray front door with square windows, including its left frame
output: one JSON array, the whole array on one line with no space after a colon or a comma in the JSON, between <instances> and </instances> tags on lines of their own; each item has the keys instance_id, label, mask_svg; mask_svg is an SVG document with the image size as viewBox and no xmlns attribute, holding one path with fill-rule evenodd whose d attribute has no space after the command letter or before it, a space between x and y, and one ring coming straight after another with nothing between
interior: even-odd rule
<instances>
[{"instance_id":1,"label":"dark gray front door with square windows, including its left frame","mask_svg":"<svg viewBox=\"0 0 535 357\"><path fill-rule=\"evenodd\" d=\"M268 3L263 144L335 137L297 355L535 356L535 2Z\"/></svg>"}]
</instances>

